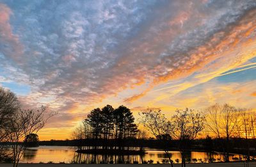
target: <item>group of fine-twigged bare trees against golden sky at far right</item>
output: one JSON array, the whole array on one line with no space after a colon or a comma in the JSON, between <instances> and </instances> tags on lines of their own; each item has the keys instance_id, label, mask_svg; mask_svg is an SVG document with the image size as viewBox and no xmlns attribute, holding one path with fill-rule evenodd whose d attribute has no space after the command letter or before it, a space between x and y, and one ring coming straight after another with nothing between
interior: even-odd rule
<instances>
[{"instance_id":1,"label":"group of fine-twigged bare trees against golden sky at far right","mask_svg":"<svg viewBox=\"0 0 256 167\"><path fill-rule=\"evenodd\" d=\"M209 136L219 139L222 151L225 152L225 160L228 160L231 139L244 139L245 146L243 154L246 154L246 163L250 161L250 142L255 139L255 112L250 109L230 106L228 104L214 104L205 109L207 119L205 129Z\"/></svg>"}]
</instances>

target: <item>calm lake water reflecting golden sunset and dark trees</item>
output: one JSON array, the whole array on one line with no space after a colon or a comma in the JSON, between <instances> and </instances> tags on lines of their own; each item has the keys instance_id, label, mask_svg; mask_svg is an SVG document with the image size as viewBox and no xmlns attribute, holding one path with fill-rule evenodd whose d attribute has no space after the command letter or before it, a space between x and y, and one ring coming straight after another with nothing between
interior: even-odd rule
<instances>
[{"instance_id":1,"label":"calm lake water reflecting golden sunset and dark trees","mask_svg":"<svg viewBox=\"0 0 256 167\"><path fill-rule=\"evenodd\" d=\"M181 156L178 151L170 151L174 163L181 162ZM243 155L230 154L230 161L237 161L243 158ZM66 146L40 146L29 147L25 150L21 163L119 163L122 160L125 163L143 163L143 161L152 160L154 163L163 163L168 161L168 157L163 150L145 148L144 155L93 155L78 154L74 147ZM218 152L197 152L186 153L186 159L191 163L209 163L210 161L224 161L223 154Z\"/></svg>"}]
</instances>

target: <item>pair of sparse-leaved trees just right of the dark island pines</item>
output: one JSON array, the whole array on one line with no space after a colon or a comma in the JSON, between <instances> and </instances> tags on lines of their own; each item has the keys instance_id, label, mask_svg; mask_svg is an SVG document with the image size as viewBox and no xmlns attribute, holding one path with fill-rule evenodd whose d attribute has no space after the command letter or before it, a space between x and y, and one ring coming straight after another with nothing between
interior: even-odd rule
<instances>
[{"instance_id":1,"label":"pair of sparse-leaved trees just right of the dark island pines","mask_svg":"<svg viewBox=\"0 0 256 167\"><path fill-rule=\"evenodd\" d=\"M173 166L168 145L173 140L179 141L179 151L182 156L182 166L186 166L185 151L189 148L191 140L195 139L204 129L205 115L193 109L177 109L175 115L168 119L160 109L147 109L141 114L140 123L163 143L166 143L164 152L168 155Z\"/></svg>"}]
</instances>

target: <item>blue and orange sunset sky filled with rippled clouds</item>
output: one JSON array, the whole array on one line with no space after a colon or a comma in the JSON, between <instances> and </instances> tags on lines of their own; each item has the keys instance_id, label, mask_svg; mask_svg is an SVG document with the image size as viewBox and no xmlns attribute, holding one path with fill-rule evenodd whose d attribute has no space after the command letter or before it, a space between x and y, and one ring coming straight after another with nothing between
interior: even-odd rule
<instances>
[{"instance_id":1,"label":"blue and orange sunset sky filled with rippled clouds","mask_svg":"<svg viewBox=\"0 0 256 167\"><path fill-rule=\"evenodd\" d=\"M40 140L106 104L256 109L255 15L255 0L0 0L0 86L58 111Z\"/></svg>"}]
</instances>

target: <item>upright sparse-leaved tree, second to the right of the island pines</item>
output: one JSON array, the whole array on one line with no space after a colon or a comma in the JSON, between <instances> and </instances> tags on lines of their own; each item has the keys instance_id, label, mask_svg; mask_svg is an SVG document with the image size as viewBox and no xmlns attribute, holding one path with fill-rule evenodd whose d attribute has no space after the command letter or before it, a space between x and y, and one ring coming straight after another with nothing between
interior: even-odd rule
<instances>
[{"instance_id":1,"label":"upright sparse-leaved tree, second to the right of the island pines","mask_svg":"<svg viewBox=\"0 0 256 167\"><path fill-rule=\"evenodd\" d=\"M186 166L185 150L189 148L191 141L204 129L205 116L193 109L177 109L172 116L172 138L179 141L179 151L182 157L182 166Z\"/></svg>"}]
</instances>

